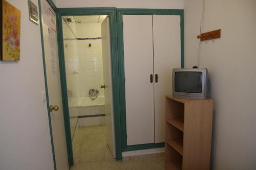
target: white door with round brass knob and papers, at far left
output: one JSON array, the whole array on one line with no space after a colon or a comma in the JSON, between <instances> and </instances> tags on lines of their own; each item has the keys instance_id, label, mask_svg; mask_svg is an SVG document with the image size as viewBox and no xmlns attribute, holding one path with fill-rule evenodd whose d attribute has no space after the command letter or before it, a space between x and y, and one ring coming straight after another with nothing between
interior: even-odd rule
<instances>
[{"instance_id":1,"label":"white door with round brass knob and papers, at far left","mask_svg":"<svg viewBox=\"0 0 256 170\"><path fill-rule=\"evenodd\" d=\"M69 164L62 109L56 22L51 22L51 16L55 19L55 13L46 0L41 1L41 11L49 104L59 107L58 111L51 112L56 167L65 170L69 169Z\"/></svg>"}]
</instances>

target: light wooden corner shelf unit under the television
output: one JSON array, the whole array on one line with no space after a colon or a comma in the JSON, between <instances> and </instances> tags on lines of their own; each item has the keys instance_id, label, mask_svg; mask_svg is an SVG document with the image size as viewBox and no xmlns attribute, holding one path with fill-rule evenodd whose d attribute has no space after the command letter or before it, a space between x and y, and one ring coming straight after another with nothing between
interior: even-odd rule
<instances>
[{"instance_id":1,"label":"light wooden corner shelf unit under the television","mask_svg":"<svg viewBox=\"0 0 256 170\"><path fill-rule=\"evenodd\" d=\"M166 95L165 168L210 169L213 101Z\"/></svg>"}]
</instances>

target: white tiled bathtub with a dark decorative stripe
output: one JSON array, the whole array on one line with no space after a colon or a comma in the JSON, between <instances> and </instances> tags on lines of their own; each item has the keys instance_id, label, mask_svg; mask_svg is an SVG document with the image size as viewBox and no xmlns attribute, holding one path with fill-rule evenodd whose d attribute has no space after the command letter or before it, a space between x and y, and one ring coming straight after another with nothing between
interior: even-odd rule
<instances>
[{"instance_id":1,"label":"white tiled bathtub with a dark decorative stripe","mask_svg":"<svg viewBox=\"0 0 256 170\"><path fill-rule=\"evenodd\" d=\"M69 110L70 117L77 115L79 127L105 125L104 96L98 96L94 101L90 98L70 98Z\"/></svg>"}]
</instances>

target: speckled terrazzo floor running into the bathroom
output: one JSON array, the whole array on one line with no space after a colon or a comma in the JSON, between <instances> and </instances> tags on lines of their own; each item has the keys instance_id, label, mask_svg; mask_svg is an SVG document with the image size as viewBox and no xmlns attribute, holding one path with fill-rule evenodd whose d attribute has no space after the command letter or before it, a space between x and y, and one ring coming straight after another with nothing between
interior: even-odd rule
<instances>
[{"instance_id":1,"label":"speckled terrazzo floor running into the bathroom","mask_svg":"<svg viewBox=\"0 0 256 170\"><path fill-rule=\"evenodd\" d=\"M116 161L106 144L106 127L77 128L73 138L74 166L71 170L105 169L164 169L164 154L124 157Z\"/></svg>"}]
</instances>

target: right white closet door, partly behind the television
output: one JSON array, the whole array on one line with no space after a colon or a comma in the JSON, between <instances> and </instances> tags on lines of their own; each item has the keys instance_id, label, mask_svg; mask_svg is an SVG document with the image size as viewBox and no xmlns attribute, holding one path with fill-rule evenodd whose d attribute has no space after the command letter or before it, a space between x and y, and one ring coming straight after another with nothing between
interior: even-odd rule
<instances>
[{"instance_id":1,"label":"right white closet door, partly behind the television","mask_svg":"<svg viewBox=\"0 0 256 170\"><path fill-rule=\"evenodd\" d=\"M180 16L153 15L155 143L164 142L165 95L172 94L172 70L181 66ZM154 76L155 76L154 75Z\"/></svg>"}]
</instances>

